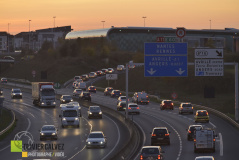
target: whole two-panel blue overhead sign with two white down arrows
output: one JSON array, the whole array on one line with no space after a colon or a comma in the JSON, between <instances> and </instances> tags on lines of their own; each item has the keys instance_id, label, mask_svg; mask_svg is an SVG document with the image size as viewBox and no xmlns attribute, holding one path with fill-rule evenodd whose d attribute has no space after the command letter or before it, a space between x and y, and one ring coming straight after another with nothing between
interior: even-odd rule
<instances>
[{"instance_id":1,"label":"whole two-panel blue overhead sign with two white down arrows","mask_svg":"<svg viewBox=\"0 0 239 160\"><path fill-rule=\"evenodd\" d=\"M187 43L145 43L145 77L186 77L187 62Z\"/></svg>"}]
</instances>

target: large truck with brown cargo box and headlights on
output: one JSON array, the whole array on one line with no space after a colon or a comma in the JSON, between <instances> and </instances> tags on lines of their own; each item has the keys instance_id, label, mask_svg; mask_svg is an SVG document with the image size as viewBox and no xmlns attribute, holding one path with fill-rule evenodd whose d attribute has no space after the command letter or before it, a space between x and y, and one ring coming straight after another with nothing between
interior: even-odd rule
<instances>
[{"instance_id":1,"label":"large truck with brown cargo box and headlights on","mask_svg":"<svg viewBox=\"0 0 239 160\"><path fill-rule=\"evenodd\" d=\"M40 107L55 107L56 93L53 82L32 82L33 104Z\"/></svg>"}]
</instances>

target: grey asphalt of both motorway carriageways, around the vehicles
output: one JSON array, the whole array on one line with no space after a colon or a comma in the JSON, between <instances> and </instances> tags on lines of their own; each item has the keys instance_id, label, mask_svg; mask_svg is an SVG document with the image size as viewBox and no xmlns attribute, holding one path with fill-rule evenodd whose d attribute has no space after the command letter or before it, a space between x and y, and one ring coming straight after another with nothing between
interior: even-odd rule
<instances>
[{"instance_id":1,"label":"grey asphalt of both motorway carriageways, around the vehicles","mask_svg":"<svg viewBox=\"0 0 239 160\"><path fill-rule=\"evenodd\" d=\"M95 80L95 79L94 79ZM91 83L91 82L89 82ZM72 95L71 84L64 89L58 90L58 94ZM86 108L83 108L80 129L60 127L59 108L38 108L32 105L30 93L24 93L23 99L10 98L10 90L4 90L4 106L13 109L18 117L21 117L22 130L28 130L34 136L34 140L40 142L38 130L44 124L54 124L59 128L59 139L57 143L64 143L64 157L62 159L110 159L111 155L124 143L127 137L127 129L118 124L119 121L113 117L104 115L103 119L88 120ZM116 110L116 98L104 96L102 92L92 93L92 102ZM59 102L58 105L59 106ZM209 106L210 107L210 106ZM178 108L174 110L160 110L159 104L150 102L149 105L140 105L141 114L129 116L130 119L141 128L144 136L141 141L144 145L150 145L150 132L154 127L165 126L169 129L171 144L162 145L165 159L168 160L193 160L196 156L212 155L216 160L237 160L237 149L239 148L239 131L223 119L210 114L210 123L201 123L204 127L215 128L218 135L216 138L215 153L194 153L193 141L187 141L186 129L195 124L194 115L179 115ZM118 111L124 114L124 111ZM200 124L200 123L198 123ZM86 149L85 140L91 130L102 130L108 139L105 149ZM10 142L9 142L10 143ZM4 159L21 159L17 154L10 154L9 146L1 143L0 155ZM8 144L9 145L9 144ZM135 159L139 159L139 154Z\"/></svg>"}]
</instances>

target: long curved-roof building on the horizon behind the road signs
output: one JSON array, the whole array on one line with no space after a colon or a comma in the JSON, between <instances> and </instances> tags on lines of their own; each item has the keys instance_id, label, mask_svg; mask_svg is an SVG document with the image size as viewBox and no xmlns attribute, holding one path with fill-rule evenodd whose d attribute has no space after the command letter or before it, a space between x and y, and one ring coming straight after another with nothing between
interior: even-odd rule
<instances>
[{"instance_id":1,"label":"long curved-roof building on the horizon behind the road signs","mask_svg":"<svg viewBox=\"0 0 239 160\"><path fill-rule=\"evenodd\" d=\"M106 37L123 51L144 51L145 42L158 42L160 37L173 39L174 42L187 42L189 48L224 48L232 52L239 52L239 30L225 28L224 30L194 30L185 29L186 36L180 40L173 28L158 27L112 27L107 29L73 31L66 35L66 39Z\"/></svg>"}]
</instances>

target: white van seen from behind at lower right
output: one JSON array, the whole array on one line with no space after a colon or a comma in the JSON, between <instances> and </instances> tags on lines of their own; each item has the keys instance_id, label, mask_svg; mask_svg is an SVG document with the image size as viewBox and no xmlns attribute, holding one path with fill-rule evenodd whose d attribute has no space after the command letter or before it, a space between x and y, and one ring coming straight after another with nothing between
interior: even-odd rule
<instances>
[{"instance_id":1,"label":"white van seen from behind at lower right","mask_svg":"<svg viewBox=\"0 0 239 160\"><path fill-rule=\"evenodd\" d=\"M215 152L215 137L217 135L212 129L202 129L195 131L194 152L210 150Z\"/></svg>"}]
</instances>

